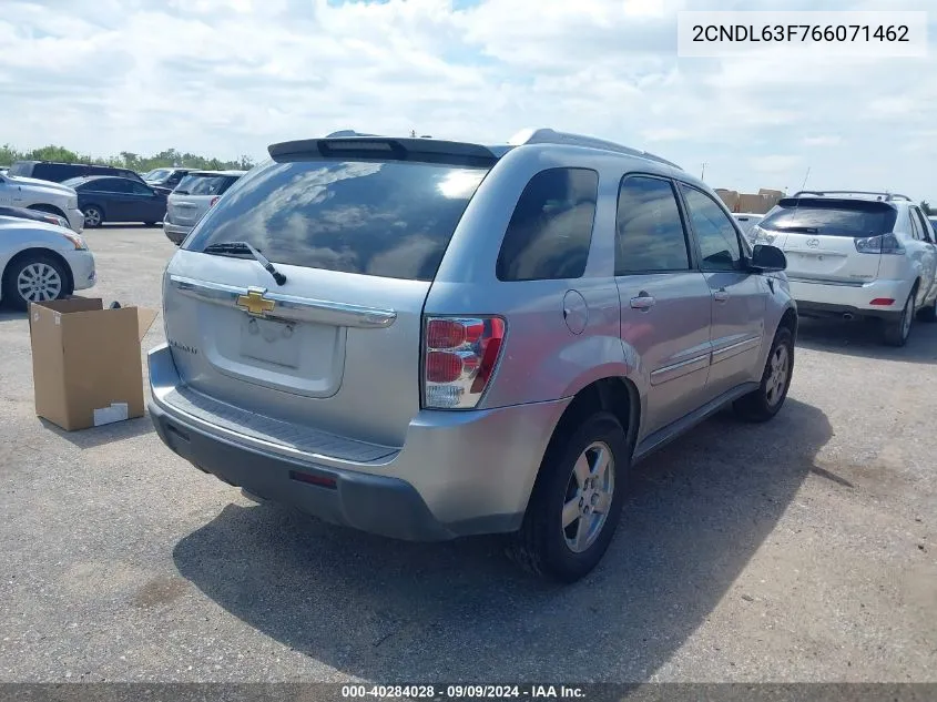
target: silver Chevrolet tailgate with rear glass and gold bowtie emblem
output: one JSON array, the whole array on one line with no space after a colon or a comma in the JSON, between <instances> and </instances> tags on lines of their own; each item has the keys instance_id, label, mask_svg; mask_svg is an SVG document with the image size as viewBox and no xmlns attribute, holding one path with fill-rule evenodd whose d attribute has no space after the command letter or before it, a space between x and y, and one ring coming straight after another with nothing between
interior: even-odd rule
<instances>
[{"instance_id":1,"label":"silver Chevrolet tailgate with rear glass and gold bowtie emblem","mask_svg":"<svg viewBox=\"0 0 937 702\"><path fill-rule=\"evenodd\" d=\"M424 303L487 170L374 155L278 156L198 223L164 286L187 388L312 431L403 445L419 411ZM204 253L225 242L252 244L286 282L249 255Z\"/></svg>"}]
</instances>

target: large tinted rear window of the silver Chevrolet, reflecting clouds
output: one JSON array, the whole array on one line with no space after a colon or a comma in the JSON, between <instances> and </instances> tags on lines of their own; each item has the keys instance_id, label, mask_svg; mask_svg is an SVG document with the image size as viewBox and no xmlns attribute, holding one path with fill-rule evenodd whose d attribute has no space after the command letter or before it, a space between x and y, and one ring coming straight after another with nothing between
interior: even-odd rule
<instances>
[{"instance_id":1,"label":"large tinted rear window of the silver Chevrolet, reflecting clouds","mask_svg":"<svg viewBox=\"0 0 937 702\"><path fill-rule=\"evenodd\" d=\"M486 173L405 161L269 163L222 197L184 248L240 241L274 263L431 281Z\"/></svg>"}]
</instances>

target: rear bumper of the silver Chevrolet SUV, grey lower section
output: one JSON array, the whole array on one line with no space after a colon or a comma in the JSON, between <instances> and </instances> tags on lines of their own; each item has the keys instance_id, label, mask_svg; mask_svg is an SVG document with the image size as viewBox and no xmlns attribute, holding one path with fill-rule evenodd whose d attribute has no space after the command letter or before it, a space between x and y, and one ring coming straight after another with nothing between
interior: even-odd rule
<instances>
[{"instance_id":1,"label":"rear bumper of the silver Chevrolet SUV, grey lower section","mask_svg":"<svg viewBox=\"0 0 937 702\"><path fill-rule=\"evenodd\" d=\"M173 451L230 485L326 521L411 541L515 531L569 400L420 411L385 462L299 454L172 405L169 347L150 352L150 415Z\"/></svg>"}]
</instances>

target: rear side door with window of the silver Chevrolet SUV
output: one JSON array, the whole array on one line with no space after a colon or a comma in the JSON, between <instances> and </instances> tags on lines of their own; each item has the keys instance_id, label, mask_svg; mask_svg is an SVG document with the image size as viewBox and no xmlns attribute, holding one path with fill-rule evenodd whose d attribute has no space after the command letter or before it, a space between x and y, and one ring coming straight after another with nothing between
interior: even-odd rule
<instances>
[{"instance_id":1,"label":"rear side door with window of the silver Chevrolet SUV","mask_svg":"<svg viewBox=\"0 0 937 702\"><path fill-rule=\"evenodd\" d=\"M622 179L615 282L622 342L648 374L642 431L652 433L704 404L710 367L710 287L693 265L671 181Z\"/></svg>"}]
</instances>

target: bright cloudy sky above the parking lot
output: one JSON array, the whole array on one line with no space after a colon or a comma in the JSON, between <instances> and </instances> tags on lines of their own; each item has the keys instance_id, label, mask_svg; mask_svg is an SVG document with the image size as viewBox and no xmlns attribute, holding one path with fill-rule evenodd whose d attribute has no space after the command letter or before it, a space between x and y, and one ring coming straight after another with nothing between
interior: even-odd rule
<instances>
[{"instance_id":1,"label":"bright cloudy sky above the parking lot","mask_svg":"<svg viewBox=\"0 0 937 702\"><path fill-rule=\"evenodd\" d=\"M937 52L679 58L680 10L933 0L2 0L0 143L254 159L340 129L503 143L550 126L714 187L937 202ZM937 42L937 6L929 17Z\"/></svg>"}]
</instances>

